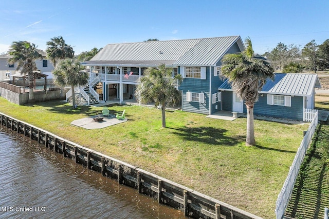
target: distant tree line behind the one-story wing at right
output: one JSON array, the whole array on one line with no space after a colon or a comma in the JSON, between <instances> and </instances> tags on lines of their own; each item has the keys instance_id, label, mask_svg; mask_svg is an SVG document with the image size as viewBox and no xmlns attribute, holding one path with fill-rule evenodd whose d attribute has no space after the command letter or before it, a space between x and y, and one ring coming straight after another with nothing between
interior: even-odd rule
<instances>
[{"instance_id":1,"label":"distant tree line behind the one-story wing at right","mask_svg":"<svg viewBox=\"0 0 329 219\"><path fill-rule=\"evenodd\" d=\"M313 39L302 49L300 46L278 43L277 47L263 54L273 69L284 73L301 73L329 69L329 39L317 45Z\"/></svg>"}]
</instances>

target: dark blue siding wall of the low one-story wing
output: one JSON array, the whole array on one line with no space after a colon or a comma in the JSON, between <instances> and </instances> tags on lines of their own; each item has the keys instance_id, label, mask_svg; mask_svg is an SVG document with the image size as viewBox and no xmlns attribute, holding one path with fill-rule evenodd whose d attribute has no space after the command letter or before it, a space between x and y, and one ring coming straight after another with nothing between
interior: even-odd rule
<instances>
[{"instance_id":1,"label":"dark blue siding wall of the low one-story wing","mask_svg":"<svg viewBox=\"0 0 329 219\"><path fill-rule=\"evenodd\" d=\"M303 97L291 96L291 107L267 105L267 94L259 97L259 101L255 103L253 114L264 115L276 118L288 118L290 120L303 120ZM247 109L244 105L244 112Z\"/></svg>"}]
</instances>

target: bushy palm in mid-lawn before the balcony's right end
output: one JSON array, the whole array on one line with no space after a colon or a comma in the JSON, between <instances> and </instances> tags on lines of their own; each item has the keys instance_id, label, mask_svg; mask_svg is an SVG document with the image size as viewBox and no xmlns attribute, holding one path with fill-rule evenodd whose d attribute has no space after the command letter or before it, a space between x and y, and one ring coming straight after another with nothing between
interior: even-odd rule
<instances>
[{"instance_id":1,"label":"bushy palm in mid-lawn before the balcony's right end","mask_svg":"<svg viewBox=\"0 0 329 219\"><path fill-rule=\"evenodd\" d=\"M161 106L162 127L166 127L166 107L176 106L180 100L180 93L174 87L181 76L172 77L172 70L160 65L156 68L148 68L144 71L145 76L139 78L136 96L141 104L154 102L155 107Z\"/></svg>"}]
</instances>

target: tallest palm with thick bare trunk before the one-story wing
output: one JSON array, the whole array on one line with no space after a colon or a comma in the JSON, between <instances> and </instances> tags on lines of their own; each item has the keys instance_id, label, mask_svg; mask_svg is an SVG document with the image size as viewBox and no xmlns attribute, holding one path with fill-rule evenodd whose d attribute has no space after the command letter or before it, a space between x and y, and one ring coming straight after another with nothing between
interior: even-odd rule
<instances>
[{"instance_id":1,"label":"tallest palm with thick bare trunk before the one-story wing","mask_svg":"<svg viewBox=\"0 0 329 219\"><path fill-rule=\"evenodd\" d=\"M235 94L244 99L247 107L247 138L246 145L255 145L253 106L258 101L268 78L274 79L275 74L270 64L254 58L251 39L245 39L246 50L236 54L226 54L222 59L222 77L227 78Z\"/></svg>"}]
</instances>

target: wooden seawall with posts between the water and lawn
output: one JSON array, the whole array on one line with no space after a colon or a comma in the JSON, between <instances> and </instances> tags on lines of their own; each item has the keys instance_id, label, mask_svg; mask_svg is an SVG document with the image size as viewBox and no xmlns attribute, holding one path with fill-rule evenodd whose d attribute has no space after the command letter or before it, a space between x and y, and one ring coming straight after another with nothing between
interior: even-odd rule
<instances>
[{"instance_id":1,"label":"wooden seawall with posts between the water and lawn","mask_svg":"<svg viewBox=\"0 0 329 219\"><path fill-rule=\"evenodd\" d=\"M191 218L261 219L251 213L215 200L185 186L116 160L97 151L70 142L38 127L16 120L0 113L2 127L10 128L31 140L38 141L64 157L82 164L90 170L101 172L103 176L114 178L119 184L130 186L139 193L151 196L158 203L171 206Z\"/></svg>"}]
</instances>

